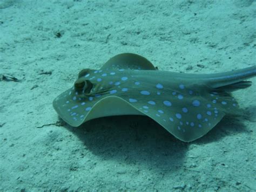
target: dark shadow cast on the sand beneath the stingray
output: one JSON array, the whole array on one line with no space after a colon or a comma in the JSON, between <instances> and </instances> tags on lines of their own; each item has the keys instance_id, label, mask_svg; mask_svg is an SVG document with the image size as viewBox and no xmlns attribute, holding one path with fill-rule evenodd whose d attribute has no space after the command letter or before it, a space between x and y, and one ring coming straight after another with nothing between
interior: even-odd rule
<instances>
[{"instance_id":1,"label":"dark shadow cast on the sand beneath the stingray","mask_svg":"<svg viewBox=\"0 0 256 192\"><path fill-rule=\"evenodd\" d=\"M94 119L78 128L65 126L90 152L103 160L145 163L151 169L176 170L183 166L190 143L209 143L246 131L238 118L224 118L202 138L180 141L152 119L140 115Z\"/></svg>"}]
</instances>

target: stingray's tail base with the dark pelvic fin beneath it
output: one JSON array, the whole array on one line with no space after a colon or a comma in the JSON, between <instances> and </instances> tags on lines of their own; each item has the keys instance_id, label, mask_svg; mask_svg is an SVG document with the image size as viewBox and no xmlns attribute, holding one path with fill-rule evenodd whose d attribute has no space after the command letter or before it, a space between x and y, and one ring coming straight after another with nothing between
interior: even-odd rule
<instances>
[{"instance_id":1,"label":"stingray's tail base with the dark pelvic fin beneath it","mask_svg":"<svg viewBox=\"0 0 256 192\"><path fill-rule=\"evenodd\" d=\"M225 73L210 74L205 78L207 85L219 91L232 92L252 85L246 79L256 76L256 66L243 68Z\"/></svg>"}]
</instances>

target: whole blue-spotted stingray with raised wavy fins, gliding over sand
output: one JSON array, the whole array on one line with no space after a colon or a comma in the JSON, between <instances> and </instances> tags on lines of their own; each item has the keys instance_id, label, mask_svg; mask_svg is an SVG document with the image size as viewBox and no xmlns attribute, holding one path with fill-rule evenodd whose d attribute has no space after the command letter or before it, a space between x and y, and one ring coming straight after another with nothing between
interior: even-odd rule
<instances>
[{"instance_id":1,"label":"whole blue-spotted stingray with raised wavy fins, gliding over sand","mask_svg":"<svg viewBox=\"0 0 256 192\"><path fill-rule=\"evenodd\" d=\"M79 72L53 107L69 125L114 115L146 115L181 141L209 132L225 115L239 115L231 92L251 86L256 66L215 74L159 71L133 53L114 56L99 70Z\"/></svg>"}]
</instances>

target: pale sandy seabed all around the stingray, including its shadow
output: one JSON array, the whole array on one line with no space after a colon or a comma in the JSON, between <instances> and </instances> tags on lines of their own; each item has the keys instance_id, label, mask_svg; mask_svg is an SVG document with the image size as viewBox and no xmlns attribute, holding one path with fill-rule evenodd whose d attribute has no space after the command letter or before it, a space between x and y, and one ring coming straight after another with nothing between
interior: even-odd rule
<instances>
[{"instance_id":1,"label":"pale sandy seabed all around the stingray, including its shadow","mask_svg":"<svg viewBox=\"0 0 256 192\"><path fill-rule=\"evenodd\" d=\"M255 12L251 0L1 0L0 190L256 191L255 78L234 93L244 114L190 143L144 116L73 128L52 107L118 53L173 72L255 65Z\"/></svg>"}]
</instances>

